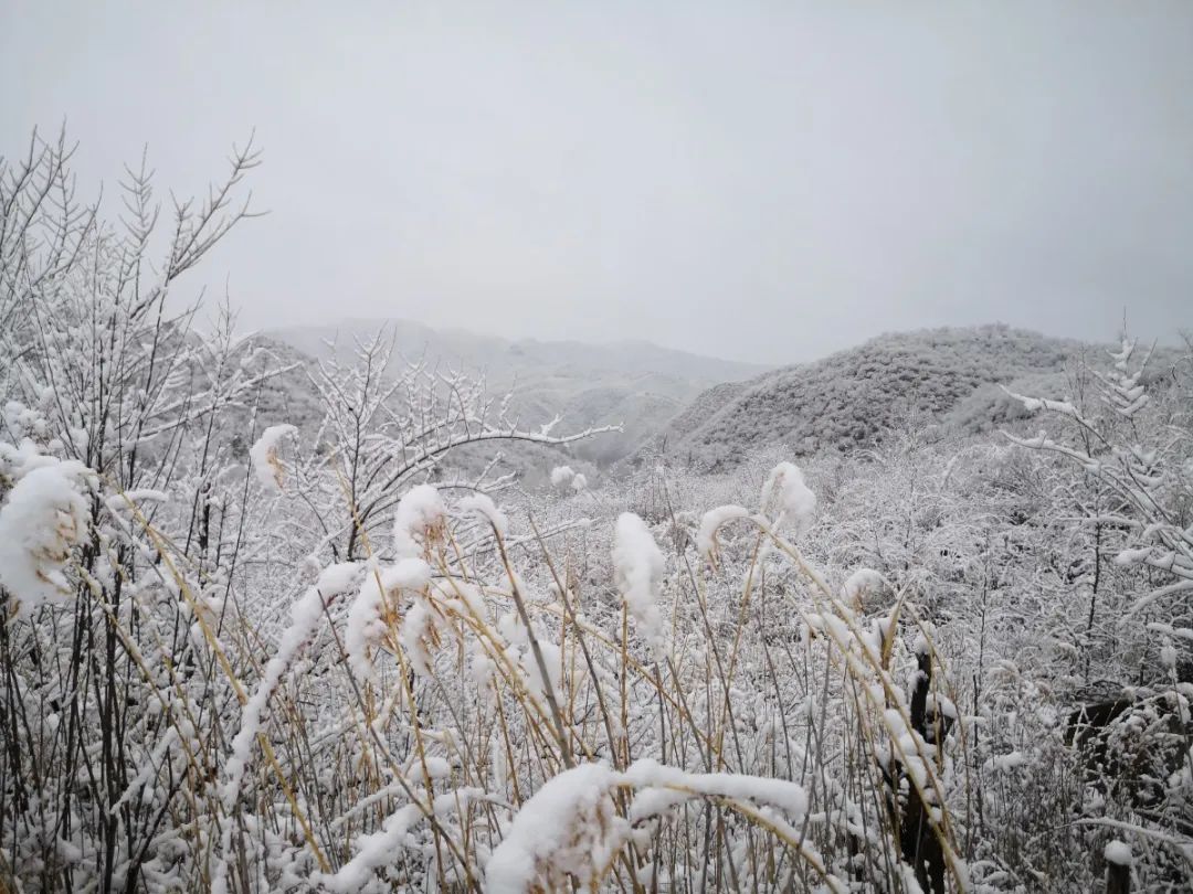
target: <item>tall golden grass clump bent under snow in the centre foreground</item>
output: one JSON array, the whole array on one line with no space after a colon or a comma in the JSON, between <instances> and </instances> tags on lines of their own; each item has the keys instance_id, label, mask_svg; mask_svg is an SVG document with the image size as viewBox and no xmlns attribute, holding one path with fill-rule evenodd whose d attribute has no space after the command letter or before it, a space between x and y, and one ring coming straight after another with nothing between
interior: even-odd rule
<instances>
[{"instance_id":1,"label":"tall golden grass clump bent under snow in the centre foreground","mask_svg":"<svg viewBox=\"0 0 1193 894\"><path fill-rule=\"evenodd\" d=\"M797 473L786 466L777 474ZM291 802L285 813L297 837L289 846L268 845L267 837L262 848L225 832L214 849L216 887L230 886L233 864L247 859L274 883L305 873L309 883L335 890L429 879L493 892L555 888L568 879L633 887L675 884L693 873L718 887L731 873L750 889L847 890L851 875L903 879L903 870L890 876L883 867L891 852L908 861L908 879L935 874L964 884L965 863L947 825L953 758L946 749L958 746L932 726L956 713L942 713L939 706L951 704L944 696L927 708L929 647L897 645L900 607L871 625L835 598L774 530L784 511L771 507L774 517L760 514L749 523L805 589L787 601L786 621L755 628L743 615L748 591L740 606L668 602L674 584L663 577L666 559L636 515L623 514L611 532L610 571L623 613L605 597L607 585L589 590L573 559L552 555L545 541L533 538L534 548L515 557L518 532L488 498L453 504L439 489L409 489L395 511L392 545L373 544L371 564L321 575L248 699L225 760L224 809L261 827L266 815L254 807L261 801L245 791L255 760L259 784L280 787L264 801L267 815L280 817ZM462 552L462 542L474 547ZM747 581L761 573L753 554ZM678 558L700 564L694 552ZM392 576L409 563L425 571ZM357 584L323 582L360 571L360 594L345 608L336 592ZM719 572L701 571L691 583L706 596L721 581ZM678 639L663 652L668 604L678 613L669 619ZM626 615L639 635L630 637ZM851 812L870 806L841 788L817 791L812 777L793 780L810 752L789 738L795 727L780 734L778 718L789 710L781 700L736 703L738 688L760 670L755 648L801 638L801 651L822 653L855 682L852 722L870 731L873 751L865 753L890 774L892 805L920 818L914 851L901 843L903 821L891 818L874 815L870 834L851 838ZM929 640L919 633L916 641ZM299 660L317 672L293 676L288 691L279 684ZM922 681L910 694L901 682L907 662ZM833 699L845 695L837 684L833 690ZM286 719L267 733L262 708L271 699L286 707ZM332 713L311 715L303 704ZM802 704L790 706L793 725L809 716ZM330 726L334 738L295 728L313 722ZM304 758L299 800L286 793L284 777L271 782L271 768L292 764L298 756L288 759L290 749L301 753L308 739L330 750L330 765L351 771L332 784ZM828 822L811 824L815 812ZM320 834L327 824L333 838ZM704 856L684 844L711 834L721 844ZM840 863L848 840L857 851L852 868Z\"/></svg>"}]
</instances>

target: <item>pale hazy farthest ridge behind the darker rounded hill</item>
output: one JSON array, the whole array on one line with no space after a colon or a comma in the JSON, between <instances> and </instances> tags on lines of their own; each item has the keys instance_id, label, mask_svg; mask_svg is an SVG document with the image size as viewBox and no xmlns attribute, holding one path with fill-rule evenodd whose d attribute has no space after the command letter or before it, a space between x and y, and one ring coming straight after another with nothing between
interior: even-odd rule
<instances>
[{"instance_id":1,"label":"pale hazy farthest ridge behind the darker rounded hill","mask_svg":"<svg viewBox=\"0 0 1193 894\"><path fill-rule=\"evenodd\" d=\"M406 360L426 359L486 375L490 391L514 391L524 424L560 414L557 430L624 424L622 434L580 442L577 458L607 465L637 449L705 389L749 379L766 367L662 348L645 341L511 341L403 319L345 319L322 327L286 327L258 337L309 358L350 362L357 344L382 334Z\"/></svg>"}]
</instances>

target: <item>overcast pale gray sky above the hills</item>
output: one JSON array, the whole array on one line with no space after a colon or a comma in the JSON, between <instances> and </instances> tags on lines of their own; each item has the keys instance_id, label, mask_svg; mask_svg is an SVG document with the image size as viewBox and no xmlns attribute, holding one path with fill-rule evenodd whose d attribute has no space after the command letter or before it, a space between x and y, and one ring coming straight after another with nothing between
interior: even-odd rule
<instances>
[{"instance_id":1,"label":"overcast pale gray sky above the hills","mask_svg":"<svg viewBox=\"0 0 1193 894\"><path fill-rule=\"evenodd\" d=\"M109 210L255 128L246 327L396 316L790 362L1193 327L1193 2L0 0L0 153Z\"/></svg>"}]
</instances>

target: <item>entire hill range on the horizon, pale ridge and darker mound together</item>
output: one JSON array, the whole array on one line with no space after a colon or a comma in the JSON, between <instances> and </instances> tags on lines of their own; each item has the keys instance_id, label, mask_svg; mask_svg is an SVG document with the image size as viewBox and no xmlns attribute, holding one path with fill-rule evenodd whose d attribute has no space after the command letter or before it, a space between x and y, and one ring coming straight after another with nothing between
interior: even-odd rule
<instances>
[{"instance_id":1,"label":"entire hill range on the horizon, pale ridge and darker mound together","mask_svg":"<svg viewBox=\"0 0 1193 894\"><path fill-rule=\"evenodd\" d=\"M313 430L321 417L308 379L315 358L348 362L357 342L378 331L392 337L406 359L483 372L495 393L514 387L524 427L537 428L557 412L558 433L624 423L624 434L565 448L501 445L503 468L518 471L527 485L561 462L591 479L601 467L632 467L659 454L719 471L758 448L783 447L796 457L865 448L909 424L991 432L1026 416L1000 385L1065 397L1078 358L1107 361L1105 346L999 324L888 334L815 362L760 372L647 342L507 341L402 321L347 321L249 340L277 365L295 367L262 389L261 424ZM1169 354L1160 349L1152 374L1162 374ZM493 452L489 446L459 451L452 464L480 470Z\"/></svg>"}]
</instances>

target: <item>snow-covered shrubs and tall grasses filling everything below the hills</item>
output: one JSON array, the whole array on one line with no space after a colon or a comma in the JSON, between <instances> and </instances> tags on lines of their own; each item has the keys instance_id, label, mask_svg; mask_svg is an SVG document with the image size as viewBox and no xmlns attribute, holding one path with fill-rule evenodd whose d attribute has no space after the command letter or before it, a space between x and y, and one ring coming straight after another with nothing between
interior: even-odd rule
<instances>
[{"instance_id":1,"label":"snow-covered shrubs and tall grasses filling everything below the hills","mask_svg":"<svg viewBox=\"0 0 1193 894\"><path fill-rule=\"evenodd\" d=\"M290 415L261 395L303 361L171 316L251 153L154 266L147 178L100 225L33 149L0 178L0 884L1187 886L1187 366L1021 402L1062 423L1000 416L1034 449L842 403L750 423L823 452L524 492L450 457L587 433L382 337ZM855 385L1003 378L919 337Z\"/></svg>"}]
</instances>

